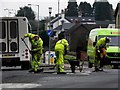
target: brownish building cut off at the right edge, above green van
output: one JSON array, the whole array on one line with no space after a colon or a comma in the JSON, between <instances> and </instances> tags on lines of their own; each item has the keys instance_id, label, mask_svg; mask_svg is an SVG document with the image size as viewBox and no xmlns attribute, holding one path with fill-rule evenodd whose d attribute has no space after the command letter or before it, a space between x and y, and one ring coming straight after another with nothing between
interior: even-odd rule
<instances>
[{"instance_id":1,"label":"brownish building cut off at the right edge, above green van","mask_svg":"<svg viewBox=\"0 0 120 90\"><path fill-rule=\"evenodd\" d=\"M117 4L116 10L115 10L115 27L120 28L120 2Z\"/></svg>"}]
</instances>

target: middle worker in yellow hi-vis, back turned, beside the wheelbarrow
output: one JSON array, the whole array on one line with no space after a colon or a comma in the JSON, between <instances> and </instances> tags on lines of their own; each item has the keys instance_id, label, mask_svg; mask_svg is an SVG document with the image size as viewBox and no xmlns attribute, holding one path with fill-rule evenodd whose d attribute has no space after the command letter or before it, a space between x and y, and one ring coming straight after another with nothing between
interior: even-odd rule
<instances>
[{"instance_id":1,"label":"middle worker in yellow hi-vis, back turned, beside the wheelbarrow","mask_svg":"<svg viewBox=\"0 0 120 90\"><path fill-rule=\"evenodd\" d=\"M66 74L64 72L64 55L67 54L69 44L66 39L64 39L64 34L61 35L55 45L56 54L56 69L57 74Z\"/></svg>"}]
</instances>

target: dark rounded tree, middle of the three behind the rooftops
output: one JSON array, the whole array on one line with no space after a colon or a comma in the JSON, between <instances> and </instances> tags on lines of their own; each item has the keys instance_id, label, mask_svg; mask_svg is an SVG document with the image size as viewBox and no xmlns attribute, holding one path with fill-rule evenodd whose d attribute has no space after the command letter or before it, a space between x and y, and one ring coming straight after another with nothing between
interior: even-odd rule
<instances>
[{"instance_id":1,"label":"dark rounded tree, middle of the three behind the rooftops","mask_svg":"<svg viewBox=\"0 0 120 90\"><path fill-rule=\"evenodd\" d=\"M78 11L84 17L93 16L93 13L92 13L93 9L92 9L90 3L80 2L79 7L78 7Z\"/></svg>"}]
</instances>

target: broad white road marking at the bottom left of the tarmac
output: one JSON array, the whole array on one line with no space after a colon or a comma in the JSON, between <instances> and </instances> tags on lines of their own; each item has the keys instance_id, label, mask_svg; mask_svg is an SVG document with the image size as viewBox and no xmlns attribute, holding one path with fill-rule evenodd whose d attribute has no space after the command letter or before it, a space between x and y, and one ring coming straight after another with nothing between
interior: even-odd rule
<instances>
[{"instance_id":1,"label":"broad white road marking at the bottom left of the tarmac","mask_svg":"<svg viewBox=\"0 0 120 90\"><path fill-rule=\"evenodd\" d=\"M0 84L0 88L35 88L42 86L41 84L33 83L3 83Z\"/></svg>"}]
</instances>

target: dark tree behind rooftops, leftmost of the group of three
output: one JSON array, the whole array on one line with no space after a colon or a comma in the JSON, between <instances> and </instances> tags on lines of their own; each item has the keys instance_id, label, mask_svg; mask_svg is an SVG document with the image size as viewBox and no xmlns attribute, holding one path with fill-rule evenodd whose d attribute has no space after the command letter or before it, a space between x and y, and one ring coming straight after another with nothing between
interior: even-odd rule
<instances>
[{"instance_id":1,"label":"dark tree behind rooftops, leftmost of the group of three","mask_svg":"<svg viewBox=\"0 0 120 90\"><path fill-rule=\"evenodd\" d=\"M78 17L78 5L77 2L68 2L68 6L65 12L65 16Z\"/></svg>"}]
</instances>

